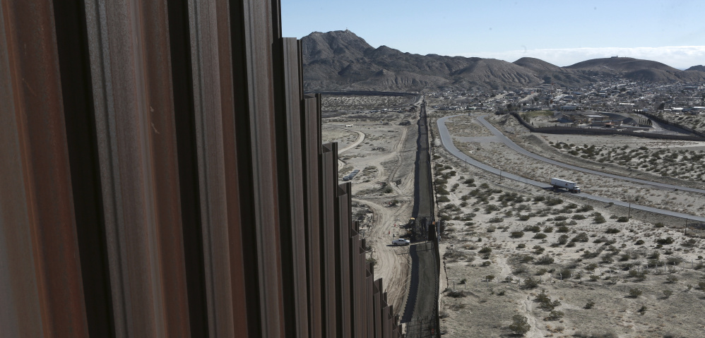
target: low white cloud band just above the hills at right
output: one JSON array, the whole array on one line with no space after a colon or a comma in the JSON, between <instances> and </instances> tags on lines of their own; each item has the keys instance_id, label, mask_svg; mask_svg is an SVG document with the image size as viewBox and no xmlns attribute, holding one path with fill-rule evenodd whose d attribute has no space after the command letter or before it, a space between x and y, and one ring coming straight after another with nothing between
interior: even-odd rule
<instances>
[{"instance_id":1,"label":"low white cloud band just above the hills at right","mask_svg":"<svg viewBox=\"0 0 705 338\"><path fill-rule=\"evenodd\" d=\"M479 56L482 58L501 59L513 62L528 56L555 64L570 66L589 59L606 58L610 56L632 57L658 61L675 68L689 68L705 64L705 46L668 46L668 47L583 47L561 49L521 49L507 52L479 52L463 54L463 56Z\"/></svg>"}]
</instances>

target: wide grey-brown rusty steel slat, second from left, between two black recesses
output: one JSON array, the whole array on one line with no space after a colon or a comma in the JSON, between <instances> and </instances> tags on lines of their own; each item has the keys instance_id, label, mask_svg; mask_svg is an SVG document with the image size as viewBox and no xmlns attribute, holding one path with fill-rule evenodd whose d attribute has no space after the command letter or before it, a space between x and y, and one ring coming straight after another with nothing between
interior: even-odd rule
<instances>
[{"instance_id":1,"label":"wide grey-brown rusty steel slat, second from left, between two black recesses","mask_svg":"<svg viewBox=\"0 0 705 338\"><path fill-rule=\"evenodd\" d=\"M189 333L165 1L87 1L117 337Z\"/></svg>"}]
</instances>

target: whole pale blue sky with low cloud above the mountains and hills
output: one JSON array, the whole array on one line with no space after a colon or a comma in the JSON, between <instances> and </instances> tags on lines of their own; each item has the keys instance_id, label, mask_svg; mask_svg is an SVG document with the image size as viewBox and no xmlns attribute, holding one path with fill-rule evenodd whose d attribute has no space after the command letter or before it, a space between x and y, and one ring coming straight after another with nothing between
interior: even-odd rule
<instances>
[{"instance_id":1,"label":"whole pale blue sky with low cloud above the mountains and hills","mask_svg":"<svg viewBox=\"0 0 705 338\"><path fill-rule=\"evenodd\" d=\"M280 0L283 35L345 30L401 52L569 66L629 56L705 64L705 1Z\"/></svg>"}]
</instances>

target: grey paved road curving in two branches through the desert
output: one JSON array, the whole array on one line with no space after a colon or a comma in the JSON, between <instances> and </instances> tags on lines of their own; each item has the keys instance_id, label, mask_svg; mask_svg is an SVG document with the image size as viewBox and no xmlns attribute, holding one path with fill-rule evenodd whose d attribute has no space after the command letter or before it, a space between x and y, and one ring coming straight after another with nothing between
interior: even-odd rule
<instances>
[{"instance_id":1,"label":"grey paved road curving in two branches through the desert","mask_svg":"<svg viewBox=\"0 0 705 338\"><path fill-rule=\"evenodd\" d=\"M446 148L446 150L448 150L448 152L450 152L451 154L453 154L455 157L458 157L459 159L461 159L461 160L467 162L468 164L473 165L474 167L478 167L478 168L480 168L480 169L483 169L483 170L486 170L486 171L490 171L490 172L493 173L493 174L497 174L497 175L501 174L502 177L505 177L506 179L512 179L512 180L514 180L514 181L519 181L519 182L522 182L522 183L531 184L532 186L538 186L539 188L551 188L551 185L550 185L550 184L547 184L547 183L544 183L544 182L533 181L533 180L531 180L531 179L526 179L526 178L524 178L524 177L521 177L521 176L518 176L518 175L515 175L515 174L509 174L509 173L504 172L504 171L501 171L501 170L499 170L499 169L490 167L490 166L488 166L487 164L484 164L484 163L482 163L482 162L479 162L479 161L473 159L472 157L469 157L468 155L463 154L463 152L461 152L460 150L458 150L458 148L453 144L453 139L451 138L451 135L450 135L450 133L448 132L448 128L446 128L446 120L447 120L447 119L450 119L451 117L455 117L455 116L459 116L459 115L460 115L460 114L454 115L454 116L446 116L446 117L443 117L443 118L441 118L441 119L438 119L438 121L436 121L436 123L437 123L437 125L438 125L438 131L439 131L439 134L440 134L440 136L441 136L441 142L443 143L443 147ZM486 123L485 126L488 126L487 128L490 128L490 131L492 131L492 133L493 133L494 135L497 135L497 138L499 138L499 140L501 140L502 142L504 142L504 144L506 144L507 146L511 147L511 149L516 150L516 148L519 148L519 149L521 149L521 151L520 151L520 150L516 150L516 151L519 151L519 152L521 152L522 154L525 154L525 155L527 155L527 153L528 153L528 154L531 154L531 155L528 155L528 156L531 156L531 157L533 157L533 158L535 158L535 159L539 159L539 160L541 160L541 161L545 161L545 162L549 162L549 163L554 163L554 162L555 162L555 164L560 165L560 166L562 166L562 167L569 166L569 164L564 164L564 163L561 163L561 162L557 162L557 161L554 161L554 160L552 160L552 159L547 159L547 158L545 158L545 157L540 157L540 156L538 156L538 155L533 154L532 152L528 152L527 150L523 149L522 147L519 147L519 145L516 145L516 143L511 142L511 140L509 140L509 138L506 138L506 136L504 136L502 133L500 133L499 131L497 131L497 128L494 128L494 126L490 125L490 123L487 123L487 121L485 121L484 119L480 119L480 122L482 122L482 124L485 124L485 123ZM495 133L495 132L496 132L496 133ZM499 134L499 135L498 135L498 134ZM512 147L510 144L511 144L511 145L514 145L514 147ZM515 148L515 147L516 147L516 148ZM617 176L617 175L612 175L612 174L605 174L605 173L602 173L602 172L600 172L600 171L593 171L593 170L589 170L589 169L585 169L585 168L581 168L581 167L573 167L573 166L570 166L570 169L574 169L574 170L578 170L578 171L590 172L590 173L594 173L594 174L598 174L598 175L603 175L603 176L614 177L614 178L616 178L616 179L627 179L627 180L629 180L629 181L636 181L636 182L640 182L640 181L641 181L641 182L644 182L645 184L648 184L648 185L651 185L651 186L662 186L662 187L665 187L665 188L671 188L671 187L673 187L674 189L679 189L679 190L684 190L684 191L694 191L694 192L705 193L705 191L702 191L702 190L700 190L700 189L686 188L686 187L680 187L680 186L672 186L672 185L670 185L670 184L663 184L663 183L656 183L656 182L651 182L651 181L644 181L644 180L632 179L632 178L630 178L630 177ZM640 183L641 183L641 182L640 182ZM614 203L615 205L621 205L622 207L629 207L629 203L622 202L621 200L612 200L612 199L610 199L610 198L603 198L603 197L600 197L600 196L589 195L589 194L586 194L586 193L580 193L579 195L575 195L575 196L576 196L576 197L579 197L579 198L588 198L588 199L590 199L590 200L597 200L597 201L604 202L604 203ZM668 215L668 216L673 216L673 217L680 217L680 218L685 218L685 219L692 219L692 220L694 220L694 221L699 221L699 222L705 222L705 217L698 217L698 216L693 216L693 215L682 214L682 213L680 213L680 212L673 212L673 211L670 211L670 210L658 209L658 208L656 208L656 207L646 207L646 206L644 206L644 205L636 205L636 204L634 204L634 203L632 203L631 207L632 207L633 209L636 209L636 210L644 210L644 211L648 211L648 212L656 212L657 214L661 214L661 215Z\"/></svg>"}]
</instances>

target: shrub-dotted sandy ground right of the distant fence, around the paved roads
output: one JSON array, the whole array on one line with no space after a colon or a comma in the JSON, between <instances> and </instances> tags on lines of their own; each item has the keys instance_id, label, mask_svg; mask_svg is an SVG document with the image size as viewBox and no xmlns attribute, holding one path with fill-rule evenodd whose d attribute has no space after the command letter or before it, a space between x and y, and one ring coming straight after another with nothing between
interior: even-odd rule
<instances>
[{"instance_id":1,"label":"shrub-dotted sandy ground right of the distant fence, around the paved roads","mask_svg":"<svg viewBox=\"0 0 705 338\"><path fill-rule=\"evenodd\" d=\"M523 176L559 170L498 146L486 140L470 143L467 150ZM509 337L517 314L531 325L526 337L701 336L705 241L669 227L673 219L666 226L648 215L619 219L626 208L500 182L497 176L465 167L442 147L434 153L439 156L434 164L439 200L447 198L439 203L439 217L446 219L442 255L449 287L441 296L444 337ZM591 177L582 180L591 193L605 184ZM627 193L640 203L668 198L664 203L673 203L670 207L691 212L703 200L639 187L624 192L623 182L607 184L620 186L612 192L617 198ZM690 203L694 206L687 207ZM629 296L631 289L641 294ZM594 302L590 308L588 301ZM553 318L551 308L560 311Z\"/></svg>"}]
</instances>

